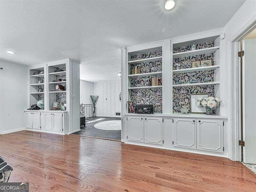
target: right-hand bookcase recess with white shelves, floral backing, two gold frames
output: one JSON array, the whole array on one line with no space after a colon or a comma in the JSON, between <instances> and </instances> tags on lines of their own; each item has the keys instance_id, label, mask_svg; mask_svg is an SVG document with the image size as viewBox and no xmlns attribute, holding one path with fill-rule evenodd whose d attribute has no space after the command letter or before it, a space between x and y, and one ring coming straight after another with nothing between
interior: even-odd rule
<instances>
[{"instance_id":1,"label":"right-hand bookcase recess with white shelves, floral backing, two gold frames","mask_svg":"<svg viewBox=\"0 0 256 192\"><path fill-rule=\"evenodd\" d=\"M190 110L191 94L218 96L220 37L178 41L172 44L172 48L172 112L180 113L181 108ZM207 64L201 66L204 60Z\"/></svg>"}]
</instances>

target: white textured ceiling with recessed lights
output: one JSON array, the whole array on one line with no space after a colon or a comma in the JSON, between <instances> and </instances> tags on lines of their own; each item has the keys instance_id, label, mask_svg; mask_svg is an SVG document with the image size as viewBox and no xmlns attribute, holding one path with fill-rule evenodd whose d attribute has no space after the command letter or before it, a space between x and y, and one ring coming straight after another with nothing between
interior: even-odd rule
<instances>
[{"instance_id":1,"label":"white textured ceiling with recessed lights","mask_svg":"<svg viewBox=\"0 0 256 192\"><path fill-rule=\"evenodd\" d=\"M166 11L163 0L0 0L0 59L72 58L83 80L120 80L120 47L224 27L243 3L176 0Z\"/></svg>"}]
</instances>

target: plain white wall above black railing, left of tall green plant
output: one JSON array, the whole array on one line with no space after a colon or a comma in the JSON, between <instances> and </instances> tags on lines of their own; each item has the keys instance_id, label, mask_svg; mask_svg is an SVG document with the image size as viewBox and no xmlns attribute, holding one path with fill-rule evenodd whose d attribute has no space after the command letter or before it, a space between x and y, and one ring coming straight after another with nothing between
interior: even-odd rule
<instances>
[{"instance_id":1,"label":"plain white wall above black railing, left of tall green plant","mask_svg":"<svg viewBox=\"0 0 256 192\"><path fill-rule=\"evenodd\" d=\"M90 95L94 95L94 83L80 80L80 104L92 104Z\"/></svg>"}]
</instances>

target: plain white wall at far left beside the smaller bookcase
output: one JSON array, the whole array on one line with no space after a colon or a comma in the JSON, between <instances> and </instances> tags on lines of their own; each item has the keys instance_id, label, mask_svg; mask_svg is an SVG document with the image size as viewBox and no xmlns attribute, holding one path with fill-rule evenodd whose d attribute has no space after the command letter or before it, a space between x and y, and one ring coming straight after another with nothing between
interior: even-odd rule
<instances>
[{"instance_id":1,"label":"plain white wall at far left beside the smaller bookcase","mask_svg":"<svg viewBox=\"0 0 256 192\"><path fill-rule=\"evenodd\" d=\"M28 67L0 60L0 133L25 127L28 104Z\"/></svg>"}]
</instances>

